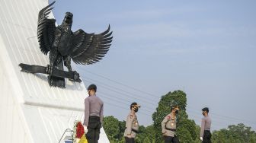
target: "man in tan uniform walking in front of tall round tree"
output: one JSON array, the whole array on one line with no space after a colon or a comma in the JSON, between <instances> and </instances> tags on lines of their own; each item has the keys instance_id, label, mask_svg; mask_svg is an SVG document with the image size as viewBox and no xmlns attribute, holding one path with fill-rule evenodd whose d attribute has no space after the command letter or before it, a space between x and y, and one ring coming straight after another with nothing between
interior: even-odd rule
<instances>
[{"instance_id":1,"label":"man in tan uniform walking in front of tall round tree","mask_svg":"<svg viewBox=\"0 0 256 143\"><path fill-rule=\"evenodd\" d=\"M178 106L171 106L171 113L162 121L162 134L165 143L179 143L178 137L175 135L178 110L180 110Z\"/></svg>"}]
</instances>

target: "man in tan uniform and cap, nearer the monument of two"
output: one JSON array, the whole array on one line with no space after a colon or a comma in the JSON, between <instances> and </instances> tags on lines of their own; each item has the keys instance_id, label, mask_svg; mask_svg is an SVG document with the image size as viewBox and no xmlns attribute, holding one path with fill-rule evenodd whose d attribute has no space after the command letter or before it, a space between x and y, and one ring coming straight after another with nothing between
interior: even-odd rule
<instances>
[{"instance_id":1,"label":"man in tan uniform and cap, nearer the monument of two","mask_svg":"<svg viewBox=\"0 0 256 143\"><path fill-rule=\"evenodd\" d=\"M135 102L130 105L130 113L127 116L126 129L124 131L126 143L135 143L136 134L139 132L139 122L136 116L139 107L139 104Z\"/></svg>"}]
</instances>

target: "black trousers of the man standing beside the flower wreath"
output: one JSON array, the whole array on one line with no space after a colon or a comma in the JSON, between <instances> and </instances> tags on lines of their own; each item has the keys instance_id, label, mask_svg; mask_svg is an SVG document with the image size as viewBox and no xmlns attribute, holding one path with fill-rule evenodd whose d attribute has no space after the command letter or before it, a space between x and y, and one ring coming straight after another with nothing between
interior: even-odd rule
<instances>
[{"instance_id":1,"label":"black trousers of the man standing beside the flower wreath","mask_svg":"<svg viewBox=\"0 0 256 143\"><path fill-rule=\"evenodd\" d=\"M100 138L101 120L99 116L89 116L88 132L85 135L88 143L98 143Z\"/></svg>"}]
</instances>

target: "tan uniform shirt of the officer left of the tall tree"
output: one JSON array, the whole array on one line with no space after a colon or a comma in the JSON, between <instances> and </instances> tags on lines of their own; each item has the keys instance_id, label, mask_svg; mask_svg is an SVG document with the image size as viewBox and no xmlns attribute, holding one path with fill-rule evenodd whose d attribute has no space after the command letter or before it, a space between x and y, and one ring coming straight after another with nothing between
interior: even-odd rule
<instances>
[{"instance_id":1,"label":"tan uniform shirt of the officer left of the tall tree","mask_svg":"<svg viewBox=\"0 0 256 143\"><path fill-rule=\"evenodd\" d=\"M131 135L132 138L136 137L136 132L133 132L132 129L139 131L139 122L137 116L134 114L129 114L126 119L126 129L124 131L124 136Z\"/></svg>"}]
</instances>

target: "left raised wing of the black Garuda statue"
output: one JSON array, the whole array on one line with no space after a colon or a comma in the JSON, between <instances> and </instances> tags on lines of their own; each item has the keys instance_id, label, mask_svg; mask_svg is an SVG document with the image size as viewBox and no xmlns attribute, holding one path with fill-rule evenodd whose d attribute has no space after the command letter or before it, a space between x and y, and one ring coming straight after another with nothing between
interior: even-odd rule
<instances>
[{"instance_id":1,"label":"left raised wing of the black Garuda statue","mask_svg":"<svg viewBox=\"0 0 256 143\"><path fill-rule=\"evenodd\" d=\"M40 45L40 50L47 55L50 51L54 40L54 31L56 29L55 19L48 19L48 15L53 8L50 8L55 2L41 9L38 14L37 23L37 39Z\"/></svg>"}]
</instances>

